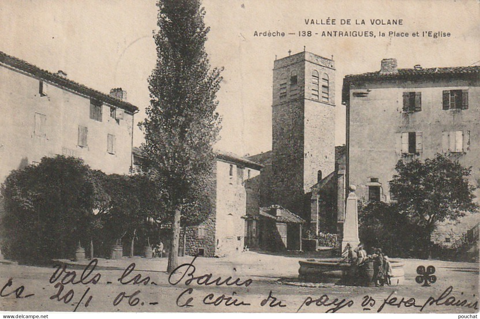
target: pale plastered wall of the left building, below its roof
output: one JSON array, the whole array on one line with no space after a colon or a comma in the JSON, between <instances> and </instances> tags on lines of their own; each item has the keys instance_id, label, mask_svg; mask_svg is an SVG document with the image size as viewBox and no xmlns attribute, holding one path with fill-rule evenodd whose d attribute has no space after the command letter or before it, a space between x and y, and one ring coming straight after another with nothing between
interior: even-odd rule
<instances>
[{"instance_id":1,"label":"pale plastered wall of the left building, below its roof","mask_svg":"<svg viewBox=\"0 0 480 319\"><path fill-rule=\"evenodd\" d=\"M40 162L56 154L84 159L94 169L107 174L128 174L132 158L132 114L110 117L110 106L102 105L102 121L90 118L90 98L24 73L0 66L1 141L0 182L12 169ZM45 119L40 131L39 120ZM37 122L36 122L37 121ZM79 146L79 126L86 127L87 146ZM115 154L107 152L107 136L115 136Z\"/></svg>"}]
</instances>

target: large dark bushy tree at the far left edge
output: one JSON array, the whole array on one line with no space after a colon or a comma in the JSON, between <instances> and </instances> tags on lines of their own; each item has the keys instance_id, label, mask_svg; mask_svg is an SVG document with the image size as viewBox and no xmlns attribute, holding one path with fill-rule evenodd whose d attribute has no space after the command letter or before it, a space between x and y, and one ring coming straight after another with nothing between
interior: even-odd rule
<instances>
[{"instance_id":1,"label":"large dark bushy tree at the far left edge","mask_svg":"<svg viewBox=\"0 0 480 319\"><path fill-rule=\"evenodd\" d=\"M60 155L12 171L1 188L6 257L72 257L79 241L87 239L93 209L105 199L96 181L83 160Z\"/></svg>"}]
</instances>

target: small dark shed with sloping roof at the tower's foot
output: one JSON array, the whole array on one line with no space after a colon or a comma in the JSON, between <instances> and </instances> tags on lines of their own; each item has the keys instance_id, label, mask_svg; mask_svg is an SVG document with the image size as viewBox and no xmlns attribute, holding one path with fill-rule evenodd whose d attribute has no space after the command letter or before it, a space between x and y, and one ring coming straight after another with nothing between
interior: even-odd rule
<instances>
[{"instance_id":1,"label":"small dark shed with sloping roof at the tower's foot","mask_svg":"<svg viewBox=\"0 0 480 319\"><path fill-rule=\"evenodd\" d=\"M260 243L270 251L301 250L305 220L280 205L260 208Z\"/></svg>"}]
</instances>

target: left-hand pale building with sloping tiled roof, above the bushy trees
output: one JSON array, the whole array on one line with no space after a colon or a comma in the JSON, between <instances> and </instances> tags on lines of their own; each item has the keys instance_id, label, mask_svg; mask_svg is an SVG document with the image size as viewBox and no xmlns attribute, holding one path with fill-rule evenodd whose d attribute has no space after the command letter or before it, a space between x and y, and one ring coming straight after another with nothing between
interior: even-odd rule
<instances>
[{"instance_id":1,"label":"left-hand pale building with sloping tiled roof, above the bushy trees","mask_svg":"<svg viewBox=\"0 0 480 319\"><path fill-rule=\"evenodd\" d=\"M0 182L56 154L80 157L105 173L129 173L138 108L126 102L125 91L103 94L3 52L0 79Z\"/></svg>"}]
</instances>

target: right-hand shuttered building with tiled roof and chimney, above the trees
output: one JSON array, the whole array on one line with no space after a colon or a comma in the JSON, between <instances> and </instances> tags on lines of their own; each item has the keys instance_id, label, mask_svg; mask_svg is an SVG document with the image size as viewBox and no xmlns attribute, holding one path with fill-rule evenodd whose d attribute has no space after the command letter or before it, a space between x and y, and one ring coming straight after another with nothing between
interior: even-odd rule
<instances>
[{"instance_id":1,"label":"right-hand shuttered building with tiled roof and chimney, above the trees","mask_svg":"<svg viewBox=\"0 0 480 319\"><path fill-rule=\"evenodd\" d=\"M480 67L398 69L384 59L380 71L347 75L347 183L363 201L390 201L388 182L401 158L448 155L472 167L480 195ZM471 223L465 218L459 223ZM448 223L447 223L448 224ZM457 226L438 229L435 243L451 241ZM465 227L462 227L465 228ZM448 233L448 234L447 234ZM447 239L448 238L448 239Z\"/></svg>"}]
</instances>

